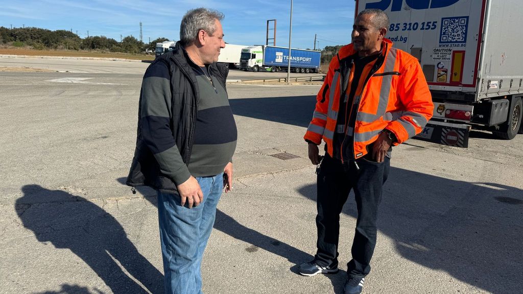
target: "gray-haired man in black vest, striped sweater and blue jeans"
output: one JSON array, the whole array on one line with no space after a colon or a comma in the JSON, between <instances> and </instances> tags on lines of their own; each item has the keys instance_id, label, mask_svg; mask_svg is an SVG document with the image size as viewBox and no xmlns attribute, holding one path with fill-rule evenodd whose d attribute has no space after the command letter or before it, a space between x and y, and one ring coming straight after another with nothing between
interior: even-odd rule
<instances>
[{"instance_id":1,"label":"gray-haired man in black vest, striped sweater and blue jeans","mask_svg":"<svg viewBox=\"0 0 523 294\"><path fill-rule=\"evenodd\" d=\"M222 194L232 188L237 130L217 64L223 14L197 8L181 20L180 41L145 72L130 186L151 186L165 293L201 293L200 265Z\"/></svg>"}]
</instances>

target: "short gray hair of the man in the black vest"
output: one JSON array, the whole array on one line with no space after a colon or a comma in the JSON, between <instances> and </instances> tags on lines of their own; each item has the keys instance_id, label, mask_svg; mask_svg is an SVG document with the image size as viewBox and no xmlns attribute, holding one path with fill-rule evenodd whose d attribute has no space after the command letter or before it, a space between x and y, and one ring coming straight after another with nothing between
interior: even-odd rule
<instances>
[{"instance_id":1,"label":"short gray hair of the man in the black vest","mask_svg":"<svg viewBox=\"0 0 523 294\"><path fill-rule=\"evenodd\" d=\"M212 36L216 30L215 20L222 20L223 13L214 9L196 8L189 10L180 24L180 43L183 46L194 44L200 30L206 31Z\"/></svg>"}]
</instances>

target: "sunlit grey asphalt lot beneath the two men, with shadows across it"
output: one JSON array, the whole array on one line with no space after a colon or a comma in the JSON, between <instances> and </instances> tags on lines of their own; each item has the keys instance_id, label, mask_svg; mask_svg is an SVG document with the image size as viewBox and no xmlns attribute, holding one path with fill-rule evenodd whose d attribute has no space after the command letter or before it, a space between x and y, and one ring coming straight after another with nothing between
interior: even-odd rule
<instances>
[{"instance_id":1,"label":"sunlit grey asphalt lot beneath the two men, with shadows across it","mask_svg":"<svg viewBox=\"0 0 523 294\"><path fill-rule=\"evenodd\" d=\"M0 69L44 66L0 71L0 292L162 293L154 191L122 184L147 64L0 58ZM340 218L340 272L295 272L315 251L302 136L318 90L228 84L235 180L203 259L206 294L343 293L354 200ZM481 131L468 149L395 147L363 293L521 293L522 155L523 135Z\"/></svg>"}]
</instances>

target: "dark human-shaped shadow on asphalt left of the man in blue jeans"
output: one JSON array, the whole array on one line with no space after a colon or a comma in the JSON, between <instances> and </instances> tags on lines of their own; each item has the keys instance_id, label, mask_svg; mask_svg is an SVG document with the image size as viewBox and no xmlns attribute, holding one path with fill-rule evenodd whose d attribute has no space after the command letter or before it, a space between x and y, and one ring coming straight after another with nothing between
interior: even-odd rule
<instances>
[{"instance_id":1,"label":"dark human-shaped shadow on asphalt left of the man in blue jeans","mask_svg":"<svg viewBox=\"0 0 523 294\"><path fill-rule=\"evenodd\" d=\"M21 190L24 196L16 200L16 212L38 241L71 250L113 293L146 293L127 273L153 294L163 292L162 273L138 252L111 214L62 190L39 185L26 185ZM76 286L67 289L71 287Z\"/></svg>"}]
</instances>

